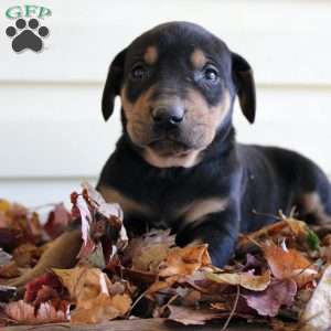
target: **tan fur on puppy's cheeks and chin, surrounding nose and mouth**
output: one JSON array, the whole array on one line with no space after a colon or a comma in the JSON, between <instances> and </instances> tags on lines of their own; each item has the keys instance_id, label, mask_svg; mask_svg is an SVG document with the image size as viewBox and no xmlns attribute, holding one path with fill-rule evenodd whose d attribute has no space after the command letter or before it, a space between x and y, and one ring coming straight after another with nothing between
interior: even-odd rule
<instances>
[{"instance_id":1,"label":"tan fur on puppy's cheeks and chin, surrounding nose and mouth","mask_svg":"<svg viewBox=\"0 0 331 331\"><path fill-rule=\"evenodd\" d=\"M214 140L217 128L231 109L229 92L224 92L223 100L210 107L203 95L197 90L188 90L185 99L178 96L164 94L160 99L151 100L157 86L151 86L139 96L135 104L126 97L126 87L121 90L121 102L125 116L127 118L127 131L131 140L142 148L142 157L150 164L158 168L184 167L190 168L197 164L202 159L202 151ZM168 97L167 97L168 96ZM181 151L160 154L147 145L152 135L151 109L160 105L182 104L185 108L185 118L182 124L182 132L185 139L194 146L194 149L184 153Z\"/></svg>"}]
</instances>

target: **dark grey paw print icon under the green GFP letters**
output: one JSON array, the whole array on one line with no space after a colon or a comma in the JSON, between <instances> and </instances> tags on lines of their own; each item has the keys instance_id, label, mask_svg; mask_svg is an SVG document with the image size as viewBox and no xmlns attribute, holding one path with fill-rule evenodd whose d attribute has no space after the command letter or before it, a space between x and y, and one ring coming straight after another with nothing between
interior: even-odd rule
<instances>
[{"instance_id":1,"label":"dark grey paw print icon under the green GFP letters","mask_svg":"<svg viewBox=\"0 0 331 331\"><path fill-rule=\"evenodd\" d=\"M46 26L40 26L36 19L31 19L26 23L24 19L18 19L15 26L8 26L6 34L12 38L11 46L14 52L23 50L40 52L43 49L43 39L50 34Z\"/></svg>"}]
</instances>

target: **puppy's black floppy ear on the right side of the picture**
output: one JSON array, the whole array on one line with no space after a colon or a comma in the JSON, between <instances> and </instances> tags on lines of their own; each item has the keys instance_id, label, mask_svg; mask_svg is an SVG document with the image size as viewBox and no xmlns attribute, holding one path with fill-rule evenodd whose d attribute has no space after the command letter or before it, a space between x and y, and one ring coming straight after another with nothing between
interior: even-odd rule
<instances>
[{"instance_id":1,"label":"puppy's black floppy ear on the right side of the picture","mask_svg":"<svg viewBox=\"0 0 331 331\"><path fill-rule=\"evenodd\" d=\"M236 85L242 111L247 120L255 120L256 95L253 70L249 63L236 53L232 53L232 75Z\"/></svg>"}]
</instances>

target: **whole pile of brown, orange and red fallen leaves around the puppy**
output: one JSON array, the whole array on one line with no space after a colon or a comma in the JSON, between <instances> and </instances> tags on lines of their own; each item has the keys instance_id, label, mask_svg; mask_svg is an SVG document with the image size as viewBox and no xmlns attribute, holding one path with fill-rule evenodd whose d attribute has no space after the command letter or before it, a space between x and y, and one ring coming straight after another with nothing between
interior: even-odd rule
<instances>
[{"instance_id":1,"label":"whole pile of brown, orange and red fallen leaves around the puppy","mask_svg":"<svg viewBox=\"0 0 331 331\"><path fill-rule=\"evenodd\" d=\"M167 318L183 324L214 320L223 329L231 319L273 330L331 327L325 226L312 231L280 215L279 222L242 235L235 258L220 269L206 245L177 247L168 231L129 239L120 206L106 203L88 184L71 199L71 213L54 205L44 225L38 210L0 201L0 325ZM75 267L46 270L23 293L9 286L75 220L82 235Z\"/></svg>"}]
</instances>

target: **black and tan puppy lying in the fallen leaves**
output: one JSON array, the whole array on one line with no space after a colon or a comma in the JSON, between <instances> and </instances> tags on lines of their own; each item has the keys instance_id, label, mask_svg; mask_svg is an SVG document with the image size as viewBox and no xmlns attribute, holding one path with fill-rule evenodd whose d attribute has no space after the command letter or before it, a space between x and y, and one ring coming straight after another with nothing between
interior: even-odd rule
<instances>
[{"instance_id":1,"label":"black and tan puppy lying in the fallen leaves","mask_svg":"<svg viewBox=\"0 0 331 331\"><path fill-rule=\"evenodd\" d=\"M136 39L110 65L106 120L117 95L122 135L97 188L120 203L131 231L171 228L179 245L207 243L222 266L239 232L275 221L260 214L295 205L313 222L331 214L330 184L314 163L292 151L236 142L236 95L248 121L255 118L253 72L203 28L171 22Z\"/></svg>"}]
</instances>

